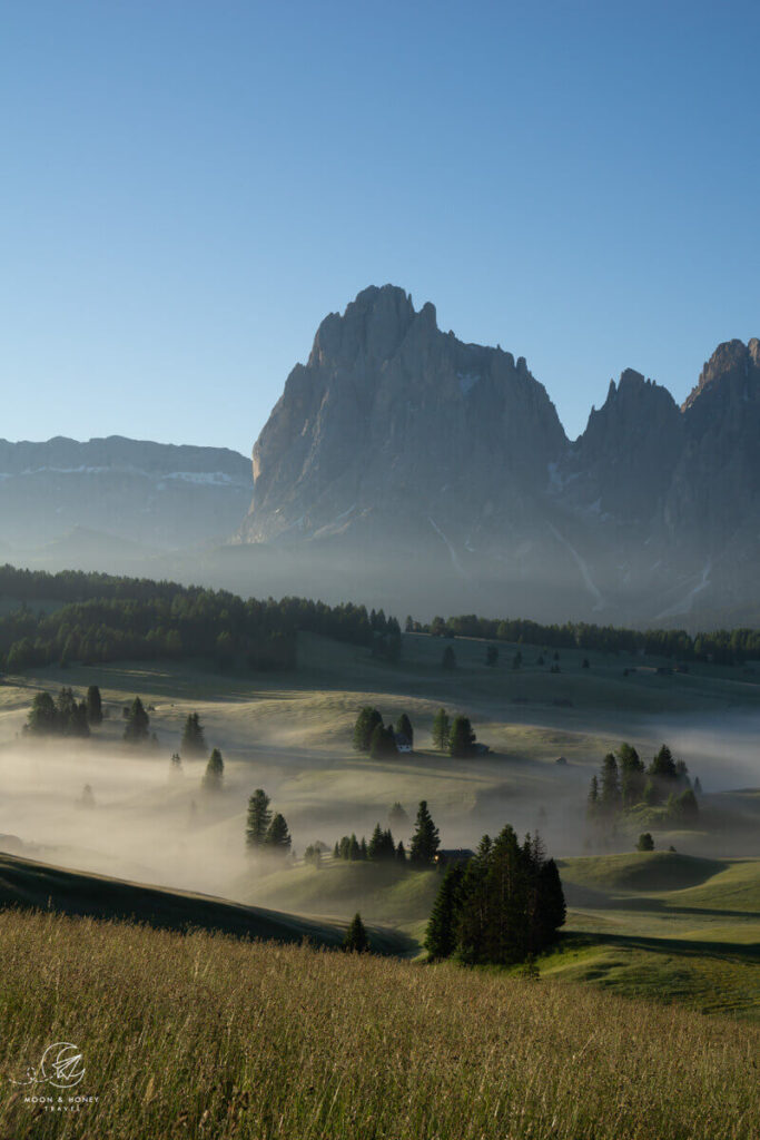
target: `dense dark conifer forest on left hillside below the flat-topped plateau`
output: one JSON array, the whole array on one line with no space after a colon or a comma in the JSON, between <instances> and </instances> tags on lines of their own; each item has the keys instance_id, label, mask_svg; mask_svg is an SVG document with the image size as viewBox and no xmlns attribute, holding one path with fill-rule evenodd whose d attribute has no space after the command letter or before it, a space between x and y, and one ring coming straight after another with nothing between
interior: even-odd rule
<instances>
[{"instance_id":1,"label":"dense dark conifer forest on left hillside below the flat-topped plateau","mask_svg":"<svg viewBox=\"0 0 760 1140\"><path fill-rule=\"evenodd\" d=\"M299 630L367 645L375 653L400 642L398 621L382 610L368 613L350 602L329 606L300 597L244 601L227 591L147 578L6 565L0 597L18 603L0 618L0 668L7 673L75 661L193 657L212 658L220 668L292 669Z\"/></svg>"}]
</instances>

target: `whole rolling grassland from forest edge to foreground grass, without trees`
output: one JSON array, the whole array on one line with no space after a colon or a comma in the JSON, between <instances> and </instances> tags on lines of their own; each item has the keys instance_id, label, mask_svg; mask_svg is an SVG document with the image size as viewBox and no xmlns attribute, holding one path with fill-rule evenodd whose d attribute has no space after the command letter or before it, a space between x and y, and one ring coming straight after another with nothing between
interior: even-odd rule
<instances>
[{"instance_id":1,"label":"whole rolling grassland from forest edge to foreground grass, without trees","mask_svg":"<svg viewBox=\"0 0 760 1140\"><path fill-rule=\"evenodd\" d=\"M746 751L746 732L732 732L760 714L758 678L663 676L641 659L624 676L627 658L569 651L548 674L551 654L539 666L532 646L516 670L505 645L489 668L484 643L460 638L449 673L444 644L404 636L391 666L302 636L291 674L198 661L3 678L2 1072L79 1041L100 1100L54 1118L3 1084L0 1137L760 1134L760 790L732 744ZM90 740L23 736L34 692L93 683L107 717ZM158 739L137 752L121 740L136 694ZM410 716L412 755L352 750L365 703ZM467 714L490 755L435 752L441 706ZM202 760L170 777L190 711L224 756L218 797L202 791ZM705 718L718 744L694 735ZM653 853L634 852L631 828L599 847L585 799L603 755L629 740L648 758L671 733L708 792L698 824L653 828ZM287 817L291 864L246 854L258 787ZM395 801L407 842L423 798L443 846L474 847L505 823L541 830L569 913L538 982L424 964L436 871L303 862L310 842L385 826ZM333 952L357 910L385 958Z\"/></svg>"}]
</instances>

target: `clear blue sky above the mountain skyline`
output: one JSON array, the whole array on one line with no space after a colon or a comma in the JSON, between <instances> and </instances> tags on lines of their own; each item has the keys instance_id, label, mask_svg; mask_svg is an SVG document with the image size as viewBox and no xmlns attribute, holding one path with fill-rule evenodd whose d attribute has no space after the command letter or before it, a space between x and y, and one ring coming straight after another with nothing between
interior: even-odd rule
<instances>
[{"instance_id":1,"label":"clear blue sky above the mountain skyline","mask_svg":"<svg viewBox=\"0 0 760 1140\"><path fill-rule=\"evenodd\" d=\"M7 439L250 453L392 282L525 356L570 435L760 335L760 7L9 0Z\"/></svg>"}]
</instances>

